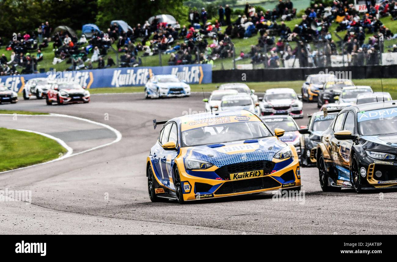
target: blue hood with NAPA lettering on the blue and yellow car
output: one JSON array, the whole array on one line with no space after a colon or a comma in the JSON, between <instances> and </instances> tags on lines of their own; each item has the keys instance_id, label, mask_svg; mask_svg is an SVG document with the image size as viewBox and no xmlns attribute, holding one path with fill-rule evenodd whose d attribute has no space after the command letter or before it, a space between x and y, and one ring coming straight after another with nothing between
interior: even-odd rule
<instances>
[{"instance_id":1,"label":"blue hood with NAPA lettering on the blue and yellow car","mask_svg":"<svg viewBox=\"0 0 397 262\"><path fill-rule=\"evenodd\" d=\"M199 159L217 167L223 167L250 161L272 161L274 155L285 146L287 145L278 140L276 136L272 136L255 140L195 146L189 149L185 158Z\"/></svg>"}]
</instances>

